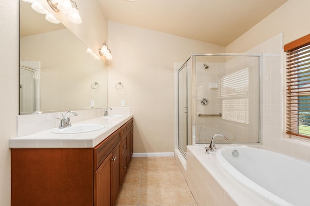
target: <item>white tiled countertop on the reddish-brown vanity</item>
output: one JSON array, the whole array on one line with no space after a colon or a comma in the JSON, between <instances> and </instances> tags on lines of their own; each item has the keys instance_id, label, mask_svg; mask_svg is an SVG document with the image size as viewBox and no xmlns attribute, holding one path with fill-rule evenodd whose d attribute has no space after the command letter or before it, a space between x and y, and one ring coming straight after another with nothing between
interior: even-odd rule
<instances>
[{"instance_id":1,"label":"white tiled countertop on the reddish-brown vanity","mask_svg":"<svg viewBox=\"0 0 310 206\"><path fill-rule=\"evenodd\" d=\"M127 115L121 118L93 118L75 123L103 124L105 128L93 132L77 134L55 134L45 130L34 134L9 139L10 148L93 148L105 140L110 134L119 129L124 123L133 118Z\"/></svg>"}]
</instances>

